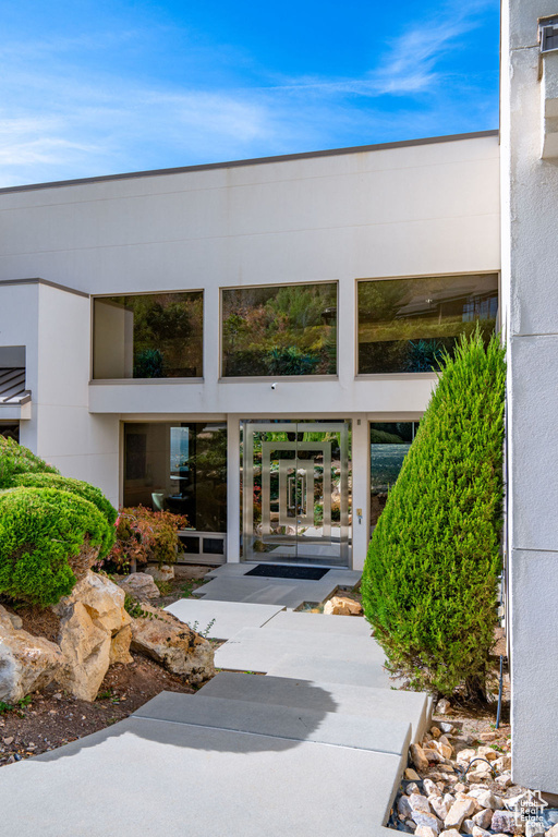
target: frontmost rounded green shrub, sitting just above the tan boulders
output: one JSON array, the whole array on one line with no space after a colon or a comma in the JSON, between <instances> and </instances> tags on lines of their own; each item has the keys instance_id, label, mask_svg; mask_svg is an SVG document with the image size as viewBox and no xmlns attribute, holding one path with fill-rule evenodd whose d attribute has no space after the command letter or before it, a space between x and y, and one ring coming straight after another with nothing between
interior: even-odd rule
<instances>
[{"instance_id":1,"label":"frontmost rounded green shrub, sitting just above the tan boulders","mask_svg":"<svg viewBox=\"0 0 558 837\"><path fill-rule=\"evenodd\" d=\"M0 493L0 592L53 605L97 560L109 524L88 500L56 488Z\"/></svg>"}]
</instances>

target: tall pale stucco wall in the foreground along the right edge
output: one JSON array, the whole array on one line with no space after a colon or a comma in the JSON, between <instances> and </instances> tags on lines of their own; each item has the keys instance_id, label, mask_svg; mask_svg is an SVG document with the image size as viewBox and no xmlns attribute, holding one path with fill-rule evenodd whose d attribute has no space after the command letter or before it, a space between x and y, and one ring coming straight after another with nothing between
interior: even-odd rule
<instances>
[{"instance_id":1,"label":"tall pale stucco wall in the foreground along the right edge","mask_svg":"<svg viewBox=\"0 0 558 837\"><path fill-rule=\"evenodd\" d=\"M508 0L502 12L512 778L558 793L558 159L541 159L537 45L537 19L557 14L558 3ZM556 85L558 56L543 60Z\"/></svg>"}]
</instances>

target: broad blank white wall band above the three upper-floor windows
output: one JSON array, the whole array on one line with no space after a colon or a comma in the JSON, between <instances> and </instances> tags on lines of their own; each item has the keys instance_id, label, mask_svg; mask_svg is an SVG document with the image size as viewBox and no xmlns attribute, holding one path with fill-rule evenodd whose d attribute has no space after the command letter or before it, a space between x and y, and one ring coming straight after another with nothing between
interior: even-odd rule
<instances>
[{"instance_id":1,"label":"broad blank white wall band above the three upper-floor windows","mask_svg":"<svg viewBox=\"0 0 558 837\"><path fill-rule=\"evenodd\" d=\"M498 174L488 136L3 191L0 279L209 293L494 270Z\"/></svg>"}]
</instances>

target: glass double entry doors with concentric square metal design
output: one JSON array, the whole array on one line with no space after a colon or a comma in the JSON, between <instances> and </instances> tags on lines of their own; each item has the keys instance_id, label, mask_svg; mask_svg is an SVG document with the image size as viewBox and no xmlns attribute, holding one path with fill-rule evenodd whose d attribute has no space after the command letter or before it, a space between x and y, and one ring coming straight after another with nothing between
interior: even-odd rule
<instances>
[{"instance_id":1,"label":"glass double entry doors with concentric square metal design","mask_svg":"<svg viewBox=\"0 0 558 837\"><path fill-rule=\"evenodd\" d=\"M243 558L349 565L349 423L243 423Z\"/></svg>"}]
</instances>

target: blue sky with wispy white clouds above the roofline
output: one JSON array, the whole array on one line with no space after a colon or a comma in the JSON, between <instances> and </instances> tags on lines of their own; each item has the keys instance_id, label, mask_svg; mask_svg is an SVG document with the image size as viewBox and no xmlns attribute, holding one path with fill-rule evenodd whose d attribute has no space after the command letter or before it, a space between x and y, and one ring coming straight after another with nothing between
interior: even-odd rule
<instances>
[{"instance_id":1,"label":"blue sky with wispy white clouds above the roofline","mask_svg":"<svg viewBox=\"0 0 558 837\"><path fill-rule=\"evenodd\" d=\"M498 126L499 0L0 0L0 186Z\"/></svg>"}]
</instances>

